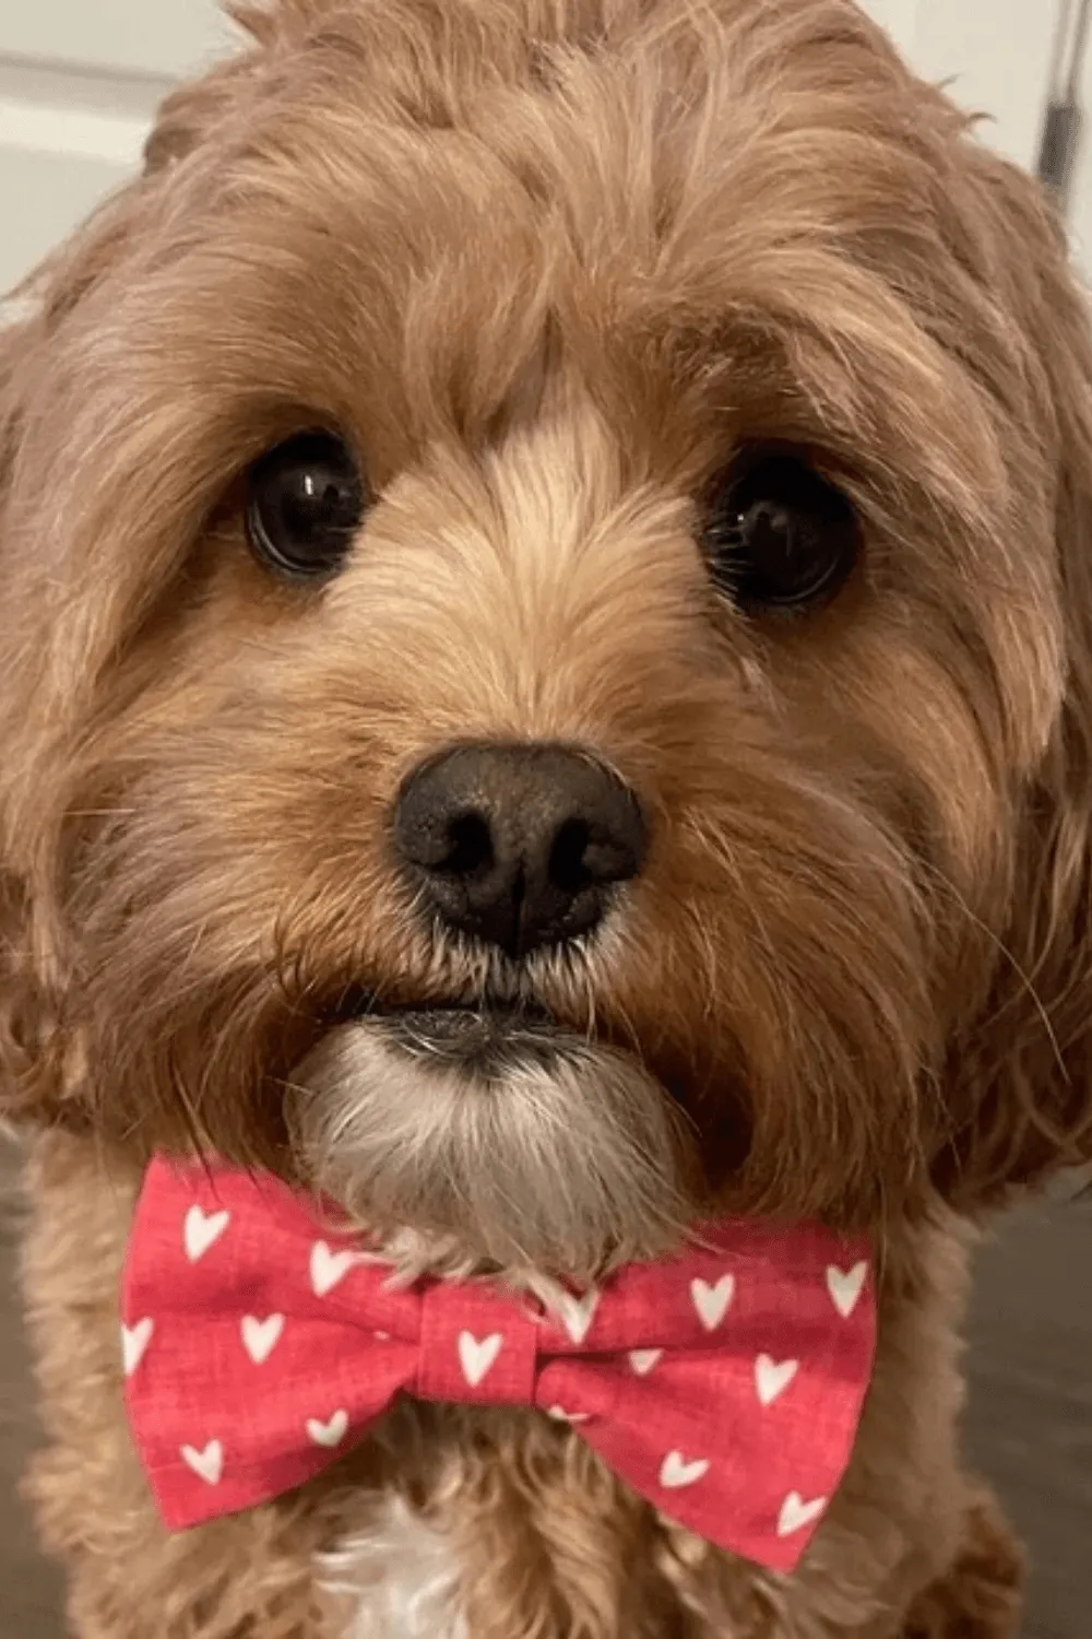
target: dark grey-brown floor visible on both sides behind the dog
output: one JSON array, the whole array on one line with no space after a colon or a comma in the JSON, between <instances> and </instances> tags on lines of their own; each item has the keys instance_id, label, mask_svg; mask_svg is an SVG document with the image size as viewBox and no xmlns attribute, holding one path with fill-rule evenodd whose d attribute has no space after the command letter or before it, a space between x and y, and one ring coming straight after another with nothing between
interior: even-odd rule
<instances>
[{"instance_id":1,"label":"dark grey-brown floor visible on both sides behind the dog","mask_svg":"<svg viewBox=\"0 0 1092 1639\"><path fill-rule=\"evenodd\" d=\"M0 1152L0 1198L11 1170ZM1023 1639L1092 1639L1092 1198L1058 1195L984 1247L971 1324L968 1446L1031 1549ZM34 1432L11 1223L0 1219L0 1639L61 1639L57 1578L16 1495Z\"/></svg>"}]
</instances>

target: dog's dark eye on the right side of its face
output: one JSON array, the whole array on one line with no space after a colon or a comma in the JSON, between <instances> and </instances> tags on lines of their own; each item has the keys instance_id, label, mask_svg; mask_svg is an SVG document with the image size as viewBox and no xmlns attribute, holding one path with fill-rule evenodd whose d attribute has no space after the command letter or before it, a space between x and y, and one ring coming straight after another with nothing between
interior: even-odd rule
<instances>
[{"instance_id":1,"label":"dog's dark eye on the right side of its face","mask_svg":"<svg viewBox=\"0 0 1092 1639\"><path fill-rule=\"evenodd\" d=\"M743 608L832 597L856 562L851 503L801 456L745 454L714 488L704 526L712 577Z\"/></svg>"}]
</instances>

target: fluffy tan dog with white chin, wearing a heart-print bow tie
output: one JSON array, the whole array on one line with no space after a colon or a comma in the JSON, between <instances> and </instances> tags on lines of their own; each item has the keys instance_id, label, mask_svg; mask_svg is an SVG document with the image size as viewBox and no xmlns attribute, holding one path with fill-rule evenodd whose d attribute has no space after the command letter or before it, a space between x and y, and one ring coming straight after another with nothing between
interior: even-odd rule
<instances>
[{"instance_id":1,"label":"fluffy tan dog with white chin, wearing a heart-print bow tie","mask_svg":"<svg viewBox=\"0 0 1092 1639\"><path fill-rule=\"evenodd\" d=\"M959 1326L981 1213L1092 1151L1064 234L850 0L234 16L0 343L0 1103L72 1631L1015 1634ZM714 1218L863 1237L799 1567L404 1395L167 1531L118 1293L195 1157L542 1314Z\"/></svg>"}]
</instances>

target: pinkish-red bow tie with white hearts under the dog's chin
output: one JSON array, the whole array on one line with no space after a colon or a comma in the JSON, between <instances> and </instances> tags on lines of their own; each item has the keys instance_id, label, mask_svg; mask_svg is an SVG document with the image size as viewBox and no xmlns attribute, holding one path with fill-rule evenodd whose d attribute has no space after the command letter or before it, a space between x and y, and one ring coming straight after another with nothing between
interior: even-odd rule
<instances>
[{"instance_id":1,"label":"pinkish-red bow tie with white hearts under the dog's chin","mask_svg":"<svg viewBox=\"0 0 1092 1639\"><path fill-rule=\"evenodd\" d=\"M679 1524L796 1569L868 1388L863 1242L714 1223L557 1314L485 1282L398 1285L362 1246L268 1175L152 1162L121 1341L134 1442L170 1529L303 1485L408 1393L535 1406Z\"/></svg>"}]
</instances>

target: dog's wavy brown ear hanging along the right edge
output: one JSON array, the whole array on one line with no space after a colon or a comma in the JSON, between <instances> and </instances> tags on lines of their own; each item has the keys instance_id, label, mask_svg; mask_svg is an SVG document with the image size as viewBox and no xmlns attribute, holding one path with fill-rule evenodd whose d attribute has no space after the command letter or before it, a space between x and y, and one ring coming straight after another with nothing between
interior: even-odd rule
<instances>
[{"instance_id":1,"label":"dog's wavy brown ear hanging along the right edge","mask_svg":"<svg viewBox=\"0 0 1092 1639\"><path fill-rule=\"evenodd\" d=\"M1009 926L986 1006L953 1042L945 1195L979 1206L1092 1159L1092 321L1036 184L987 157L1007 306L1045 372L1064 701L1018 793ZM1043 390L1045 388L1045 390Z\"/></svg>"}]
</instances>

